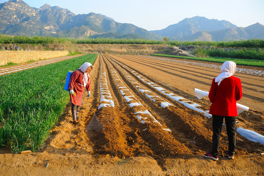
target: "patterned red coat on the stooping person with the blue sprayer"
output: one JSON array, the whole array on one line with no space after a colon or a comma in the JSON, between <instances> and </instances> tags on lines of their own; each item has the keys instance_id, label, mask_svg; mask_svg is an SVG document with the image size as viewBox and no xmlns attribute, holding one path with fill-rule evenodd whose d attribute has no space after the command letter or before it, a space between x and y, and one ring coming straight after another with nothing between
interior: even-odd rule
<instances>
[{"instance_id":1,"label":"patterned red coat on the stooping person with the blue sprayer","mask_svg":"<svg viewBox=\"0 0 264 176\"><path fill-rule=\"evenodd\" d=\"M69 88L73 89L73 91L76 93L76 96L82 100L82 95L84 92L83 73L82 72L80 75L80 72L78 70L76 70L71 74ZM86 90L87 91L91 90L90 77L89 76L88 76L88 84L86 85ZM81 106L81 101L78 98L76 98L76 96L70 94L71 102L74 105Z\"/></svg>"}]
</instances>

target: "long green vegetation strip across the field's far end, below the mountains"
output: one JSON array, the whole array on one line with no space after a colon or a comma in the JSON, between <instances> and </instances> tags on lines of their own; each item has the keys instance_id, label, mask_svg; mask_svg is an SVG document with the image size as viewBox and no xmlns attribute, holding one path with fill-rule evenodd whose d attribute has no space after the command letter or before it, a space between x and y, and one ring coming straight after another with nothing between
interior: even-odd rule
<instances>
[{"instance_id":1,"label":"long green vegetation strip across the field's far end, below the mountains","mask_svg":"<svg viewBox=\"0 0 264 176\"><path fill-rule=\"evenodd\" d=\"M144 40L144 39L109 39L109 38L97 38L97 39L70 39L70 38L55 38L55 37L27 37L27 36L5 36L0 35L0 44L59 44L71 42L73 44L170 44L170 45L199 45L199 46L218 46L218 47L250 47L250 48L264 48L264 40L252 39L243 41L228 41L228 42L209 42L209 41L171 41L165 40Z\"/></svg>"}]
</instances>

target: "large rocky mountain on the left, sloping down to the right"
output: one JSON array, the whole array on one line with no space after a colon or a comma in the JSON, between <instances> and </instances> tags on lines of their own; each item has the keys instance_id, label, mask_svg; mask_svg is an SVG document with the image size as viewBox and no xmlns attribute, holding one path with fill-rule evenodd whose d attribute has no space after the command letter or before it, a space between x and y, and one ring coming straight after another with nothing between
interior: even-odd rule
<instances>
[{"instance_id":1,"label":"large rocky mountain on the left, sloping down to the right","mask_svg":"<svg viewBox=\"0 0 264 176\"><path fill-rule=\"evenodd\" d=\"M160 40L161 36L129 23L116 22L102 14L76 15L67 9L44 4L37 9L22 0L0 4L0 32L8 35L88 38L116 33L120 36Z\"/></svg>"}]
</instances>

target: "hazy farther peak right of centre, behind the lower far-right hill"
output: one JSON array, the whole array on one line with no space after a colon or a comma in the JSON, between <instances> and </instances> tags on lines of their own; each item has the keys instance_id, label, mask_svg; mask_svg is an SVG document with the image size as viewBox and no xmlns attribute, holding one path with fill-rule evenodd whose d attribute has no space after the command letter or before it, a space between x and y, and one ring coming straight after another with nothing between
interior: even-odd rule
<instances>
[{"instance_id":1,"label":"hazy farther peak right of centre, behind the lower far-right hill","mask_svg":"<svg viewBox=\"0 0 264 176\"><path fill-rule=\"evenodd\" d=\"M199 31L216 31L231 27L237 26L225 20L209 20L205 17L196 16L193 18L186 18L183 21L169 25L162 30L154 30L151 32L171 39L181 40L183 37L195 34Z\"/></svg>"}]
</instances>

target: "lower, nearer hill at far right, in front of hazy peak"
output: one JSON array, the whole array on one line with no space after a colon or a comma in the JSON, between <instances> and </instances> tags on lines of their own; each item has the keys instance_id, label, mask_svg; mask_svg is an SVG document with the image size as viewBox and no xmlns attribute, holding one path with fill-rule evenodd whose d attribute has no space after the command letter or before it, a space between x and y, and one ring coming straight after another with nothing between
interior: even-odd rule
<instances>
[{"instance_id":1,"label":"lower, nearer hill at far right, in front of hazy peak","mask_svg":"<svg viewBox=\"0 0 264 176\"><path fill-rule=\"evenodd\" d=\"M183 37L182 41L230 41L246 39L264 39L264 25L260 23L247 27L232 27L217 31L199 31Z\"/></svg>"}]
</instances>

